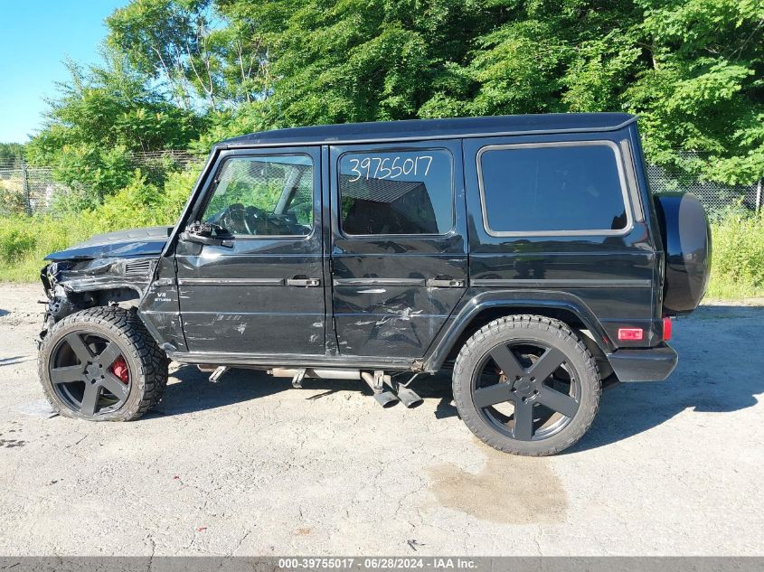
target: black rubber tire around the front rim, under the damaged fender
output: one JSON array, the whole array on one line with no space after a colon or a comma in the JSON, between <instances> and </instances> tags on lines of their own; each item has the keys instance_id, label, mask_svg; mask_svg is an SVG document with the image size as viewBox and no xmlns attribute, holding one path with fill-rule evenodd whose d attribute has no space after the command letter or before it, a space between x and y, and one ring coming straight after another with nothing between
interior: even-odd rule
<instances>
[{"instance_id":1,"label":"black rubber tire around the front rim, under the damaged fender","mask_svg":"<svg viewBox=\"0 0 764 572\"><path fill-rule=\"evenodd\" d=\"M49 364L61 339L72 332L88 331L118 342L131 376L126 402L116 411L95 417L82 415L61 401L52 386ZM131 421L142 417L162 399L167 384L167 356L156 344L134 310L96 306L68 315L47 333L40 348L38 370L45 398L63 417L89 421Z\"/></svg>"}]
</instances>

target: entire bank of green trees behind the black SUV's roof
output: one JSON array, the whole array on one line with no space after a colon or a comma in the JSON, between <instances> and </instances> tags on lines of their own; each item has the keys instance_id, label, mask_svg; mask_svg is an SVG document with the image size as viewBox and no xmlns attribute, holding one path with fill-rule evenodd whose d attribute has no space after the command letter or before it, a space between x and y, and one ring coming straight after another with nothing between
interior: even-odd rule
<instances>
[{"instance_id":1,"label":"entire bank of green trees behind the black SUV's roof","mask_svg":"<svg viewBox=\"0 0 764 572\"><path fill-rule=\"evenodd\" d=\"M31 145L108 188L120 149L197 136L568 111L639 114L658 164L764 173L764 0L133 0L108 27L108 63L73 68Z\"/></svg>"}]
</instances>

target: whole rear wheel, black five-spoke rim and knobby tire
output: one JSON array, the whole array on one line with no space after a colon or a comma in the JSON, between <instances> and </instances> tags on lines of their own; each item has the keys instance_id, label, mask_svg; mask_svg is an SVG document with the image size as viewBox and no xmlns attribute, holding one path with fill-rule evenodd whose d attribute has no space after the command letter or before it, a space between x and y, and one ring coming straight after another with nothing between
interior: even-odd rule
<instances>
[{"instance_id":1,"label":"whole rear wheel, black five-spoke rim and knobby tire","mask_svg":"<svg viewBox=\"0 0 764 572\"><path fill-rule=\"evenodd\" d=\"M589 429L599 407L597 362L566 324L535 315L478 330L454 366L454 400L467 427L515 455L552 455Z\"/></svg>"}]
</instances>

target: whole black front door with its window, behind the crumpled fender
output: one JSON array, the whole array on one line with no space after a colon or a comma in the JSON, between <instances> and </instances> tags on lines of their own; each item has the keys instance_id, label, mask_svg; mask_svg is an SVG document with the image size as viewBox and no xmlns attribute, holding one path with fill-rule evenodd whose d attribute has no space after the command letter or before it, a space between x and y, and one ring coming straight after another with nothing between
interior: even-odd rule
<instances>
[{"instance_id":1,"label":"whole black front door with its window, behind the crumpled fender","mask_svg":"<svg viewBox=\"0 0 764 572\"><path fill-rule=\"evenodd\" d=\"M324 354L320 148L226 151L175 251L189 352ZM224 232L227 231L227 232Z\"/></svg>"}]
</instances>

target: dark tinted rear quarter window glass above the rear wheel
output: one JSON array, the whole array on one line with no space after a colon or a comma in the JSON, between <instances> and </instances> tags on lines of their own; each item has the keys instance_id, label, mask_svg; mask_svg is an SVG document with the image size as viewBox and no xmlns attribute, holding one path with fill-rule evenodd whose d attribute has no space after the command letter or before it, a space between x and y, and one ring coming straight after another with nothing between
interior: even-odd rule
<instances>
[{"instance_id":1,"label":"dark tinted rear quarter window glass above the rear wheel","mask_svg":"<svg viewBox=\"0 0 764 572\"><path fill-rule=\"evenodd\" d=\"M608 145L487 149L480 167L488 229L625 229L616 161Z\"/></svg>"}]
</instances>

